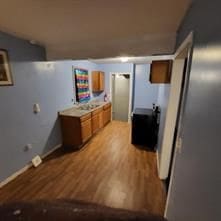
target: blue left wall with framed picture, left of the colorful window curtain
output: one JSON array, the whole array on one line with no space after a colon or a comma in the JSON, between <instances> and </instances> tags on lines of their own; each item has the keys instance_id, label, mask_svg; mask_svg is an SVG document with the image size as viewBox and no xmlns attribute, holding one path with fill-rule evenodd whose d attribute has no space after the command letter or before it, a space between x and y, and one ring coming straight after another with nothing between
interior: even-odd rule
<instances>
[{"instance_id":1,"label":"blue left wall with framed picture, left of the colorful window curtain","mask_svg":"<svg viewBox=\"0 0 221 221\"><path fill-rule=\"evenodd\" d=\"M57 112L72 105L72 65L96 70L87 61L46 62L45 50L0 33L7 49L14 86L0 87L0 181L24 167L36 154L61 143ZM39 103L41 112L33 113ZM33 148L25 152L26 144Z\"/></svg>"}]
</instances>

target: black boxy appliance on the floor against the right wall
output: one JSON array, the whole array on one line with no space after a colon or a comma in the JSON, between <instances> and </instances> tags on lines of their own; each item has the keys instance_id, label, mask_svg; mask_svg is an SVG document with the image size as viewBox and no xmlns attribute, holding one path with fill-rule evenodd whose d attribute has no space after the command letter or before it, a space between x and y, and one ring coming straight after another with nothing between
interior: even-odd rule
<instances>
[{"instance_id":1,"label":"black boxy appliance on the floor against the right wall","mask_svg":"<svg viewBox=\"0 0 221 221\"><path fill-rule=\"evenodd\" d=\"M155 150L158 137L158 111L136 108L132 117L132 144Z\"/></svg>"}]
</instances>

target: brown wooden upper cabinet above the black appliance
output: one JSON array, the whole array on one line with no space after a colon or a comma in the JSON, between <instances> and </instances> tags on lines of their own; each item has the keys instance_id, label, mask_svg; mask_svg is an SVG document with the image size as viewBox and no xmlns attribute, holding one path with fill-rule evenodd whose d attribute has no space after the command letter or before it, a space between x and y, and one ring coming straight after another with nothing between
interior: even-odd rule
<instances>
[{"instance_id":1,"label":"brown wooden upper cabinet above the black appliance","mask_svg":"<svg viewBox=\"0 0 221 221\"><path fill-rule=\"evenodd\" d=\"M152 84L169 84L172 72L172 60L152 61L150 82Z\"/></svg>"}]
</instances>

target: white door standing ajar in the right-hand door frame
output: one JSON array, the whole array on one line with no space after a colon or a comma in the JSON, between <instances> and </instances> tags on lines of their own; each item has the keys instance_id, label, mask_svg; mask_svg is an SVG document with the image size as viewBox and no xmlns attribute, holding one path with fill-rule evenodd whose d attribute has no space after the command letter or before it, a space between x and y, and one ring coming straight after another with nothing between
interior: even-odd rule
<instances>
[{"instance_id":1,"label":"white door standing ajar in the right-hand door frame","mask_svg":"<svg viewBox=\"0 0 221 221\"><path fill-rule=\"evenodd\" d=\"M161 179L166 179L171 169L174 136L176 136L177 131L176 123L177 117L180 114L179 106L182 101L181 98L184 90L189 51L190 45L188 44L181 52L179 52L173 62L170 97L164 126L164 135L161 147L162 151L160 155L159 176Z\"/></svg>"}]
</instances>

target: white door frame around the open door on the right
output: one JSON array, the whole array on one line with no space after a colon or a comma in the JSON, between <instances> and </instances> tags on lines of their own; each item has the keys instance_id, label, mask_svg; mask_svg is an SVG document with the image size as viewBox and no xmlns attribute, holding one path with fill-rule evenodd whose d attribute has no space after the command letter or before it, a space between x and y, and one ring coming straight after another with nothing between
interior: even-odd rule
<instances>
[{"instance_id":1,"label":"white door frame around the open door on the right","mask_svg":"<svg viewBox=\"0 0 221 221\"><path fill-rule=\"evenodd\" d=\"M174 60L176 58L179 58L179 55L185 49L188 49L187 66L186 66L186 72L184 73L186 75L186 77L184 79L183 93L182 93L182 97L180 97L179 108L178 108L178 113L177 113L176 125L177 125L178 129L177 129L176 137L174 137L173 159L170 160L172 162L172 167L171 167L171 176L170 176L169 189L168 189L168 194L167 194L167 199L166 199L164 217L167 217L168 205L169 205L170 196L171 196L171 188L172 188L172 183L173 183L174 168L175 168L175 163L176 163L176 157L177 157L177 154L181 154L181 149L182 149L182 123L183 123L182 119L183 119L184 109L185 109L185 104L186 104L187 90L188 90L188 86L189 86L189 75L190 75L191 57L192 57L192 49L193 49L193 32L190 32L190 34L187 36L187 38L184 40L184 42L178 48L178 50L176 51L176 53L174 55Z\"/></svg>"}]
</instances>

